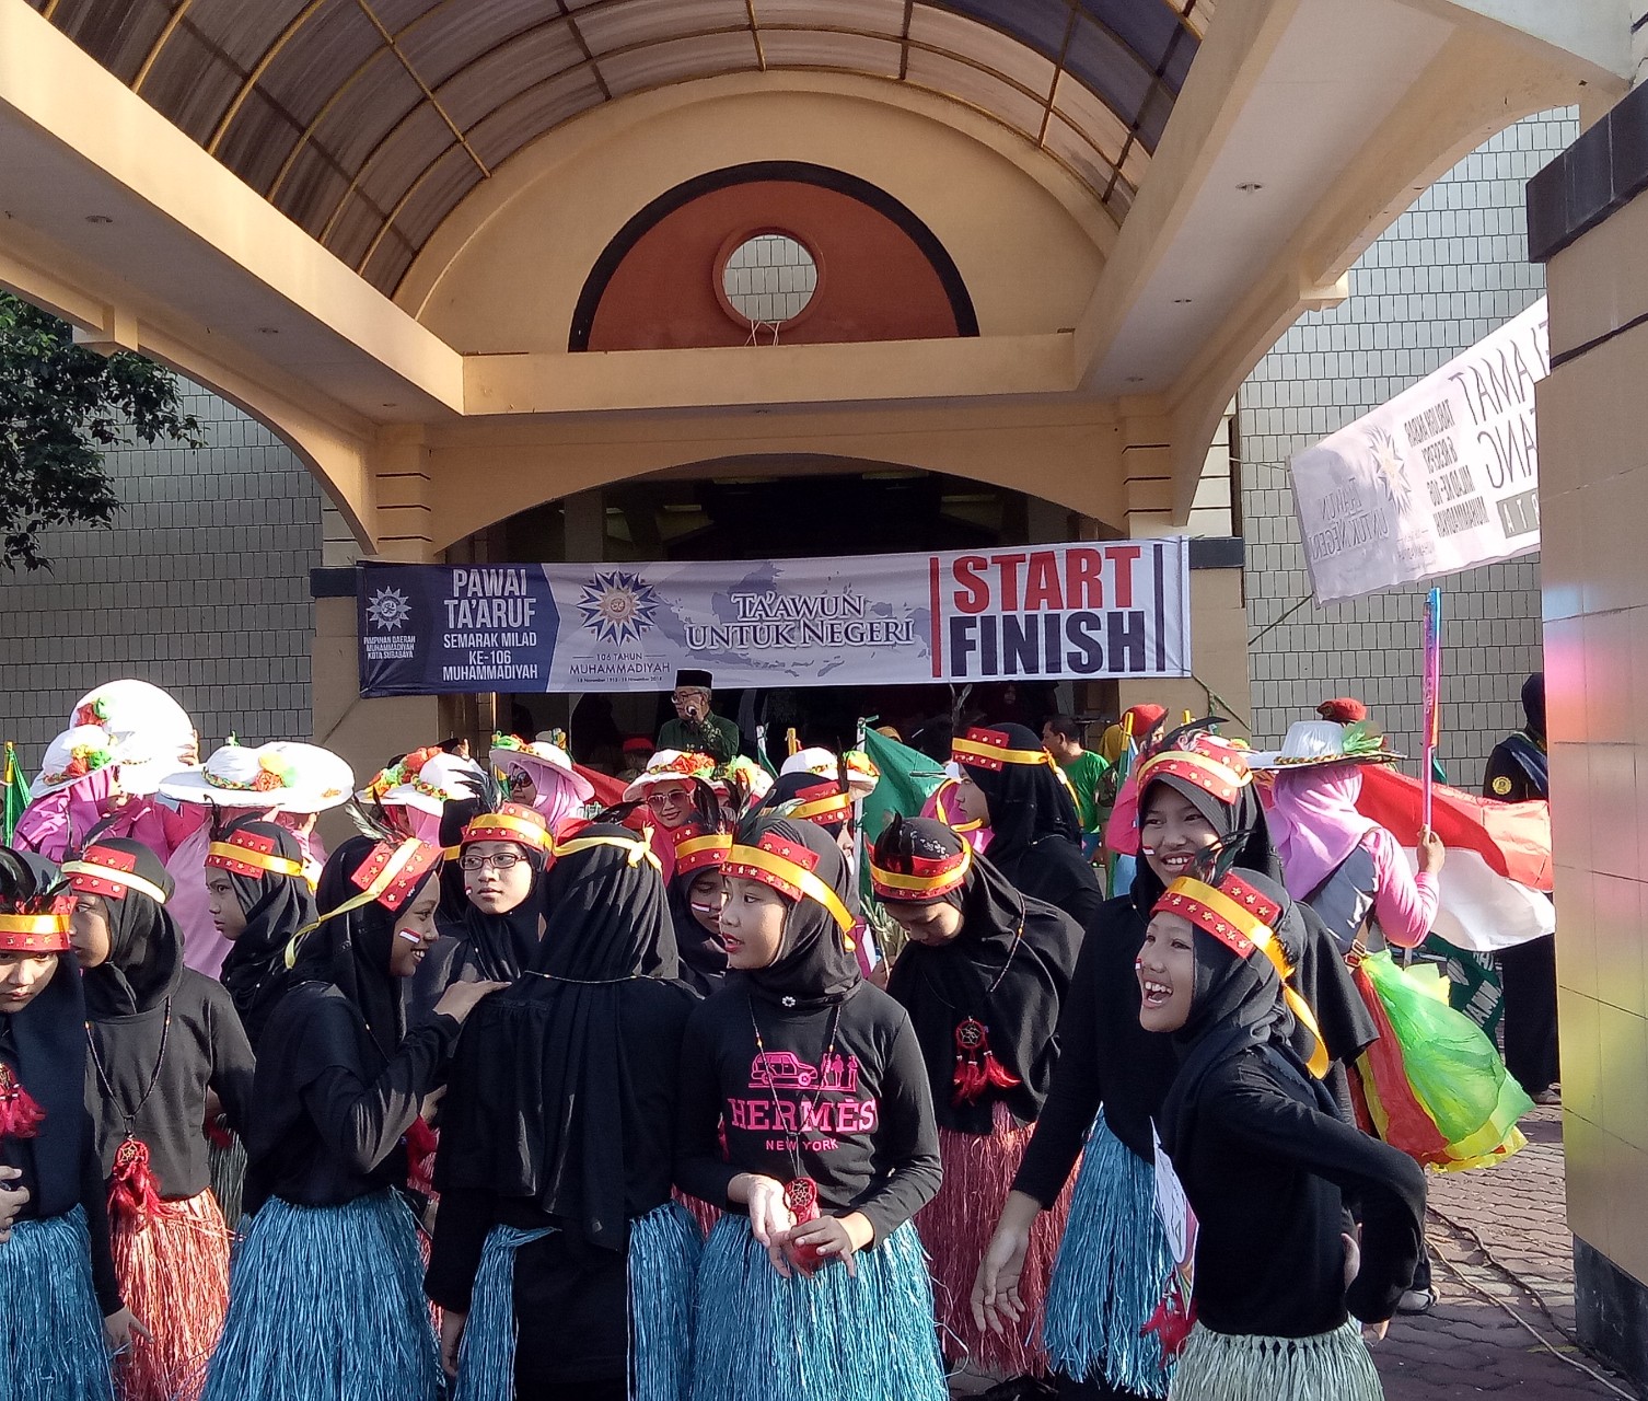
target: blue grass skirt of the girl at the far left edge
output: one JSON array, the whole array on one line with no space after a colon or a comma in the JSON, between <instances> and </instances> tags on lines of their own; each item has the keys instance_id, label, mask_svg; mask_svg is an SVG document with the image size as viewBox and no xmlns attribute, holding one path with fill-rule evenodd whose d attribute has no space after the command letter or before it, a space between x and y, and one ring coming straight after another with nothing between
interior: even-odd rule
<instances>
[{"instance_id":1,"label":"blue grass skirt of the girl at the far left edge","mask_svg":"<svg viewBox=\"0 0 1648 1401\"><path fill-rule=\"evenodd\" d=\"M86 1211L18 1221L0 1244L0 1398L112 1401Z\"/></svg>"}]
</instances>

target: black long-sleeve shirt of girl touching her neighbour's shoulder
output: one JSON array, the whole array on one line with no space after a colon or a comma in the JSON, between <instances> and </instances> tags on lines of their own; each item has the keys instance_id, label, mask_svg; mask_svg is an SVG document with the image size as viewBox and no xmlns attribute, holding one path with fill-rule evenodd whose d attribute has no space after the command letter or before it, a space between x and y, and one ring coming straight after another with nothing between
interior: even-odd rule
<instances>
[{"instance_id":1,"label":"black long-sleeve shirt of girl touching her neighbour's shoulder","mask_svg":"<svg viewBox=\"0 0 1648 1401\"><path fill-rule=\"evenodd\" d=\"M326 984L288 992L264 1035L246 1132L246 1207L269 1197L341 1207L405 1182L402 1136L458 1040L438 1015L384 1058L354 1005Z\"/></svg>"}]
</instances>

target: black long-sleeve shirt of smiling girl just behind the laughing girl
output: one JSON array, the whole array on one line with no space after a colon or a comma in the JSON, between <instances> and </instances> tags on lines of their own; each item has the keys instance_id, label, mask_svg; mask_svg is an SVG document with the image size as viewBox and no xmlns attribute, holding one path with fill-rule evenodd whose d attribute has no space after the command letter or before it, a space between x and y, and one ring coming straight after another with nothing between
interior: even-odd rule
<instances>
[{"instance_id":1,"label":"black long-sleeve shirt of smiling girl just behind the laughing girl","mask_svg":"<svg viewBox=\"0 0 1648 1401\"><path fill-rule=\"evenodd\" d=\"M1058 1014L1058 1065L1014 1187L1051 1207L1081 1155L1093 1119L1150 1162L1150 1121L1162 1111L1178 1060L1168 1037L1139 1025L1134 961L1144 920L1132 897L1107 900L1076 959Z\"/></svg>"}]
</instances>

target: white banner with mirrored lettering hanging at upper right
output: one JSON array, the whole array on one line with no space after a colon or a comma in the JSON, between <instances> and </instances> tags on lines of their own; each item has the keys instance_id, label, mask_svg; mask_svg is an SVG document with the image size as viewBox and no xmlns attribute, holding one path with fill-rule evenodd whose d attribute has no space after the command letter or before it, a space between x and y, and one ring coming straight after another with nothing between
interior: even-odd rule
<instances>
[{"instance_id":1,"label":"white banner with mirrored lettering hanging at upper right","mask_svg":"<svg viewBox=\"0 0 1648 1401\"><path fill-rule=\"evenodd\" d=\"M1546 302L1297 453L1294 511L1318 603L1539 549L1534 384Z\"/></svg>"}]
</instances>

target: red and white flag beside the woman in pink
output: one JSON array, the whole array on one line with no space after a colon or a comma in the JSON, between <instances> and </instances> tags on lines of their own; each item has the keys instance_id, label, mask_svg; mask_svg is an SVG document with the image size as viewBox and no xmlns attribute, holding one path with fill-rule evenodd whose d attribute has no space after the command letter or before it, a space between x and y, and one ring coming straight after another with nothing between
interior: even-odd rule
<instances>
[{"instance_id":1,"label":"red and white flag beside the woman in pink","mask_svg":"<svg viewBox=\"0 0 1648 1401\"><path fill-rule=\"evenodd\" d=\"M1421 826L1419 780L1388 765L1363 765L1356 808L1401 841ZM1430 824L1447 847L1435 933L1458 948L1491 953L1556 930L1549 803L1496 803L1437 783ZM1402 850L1417 870L1416 849Z\"/></svg>"}]
</instances>

